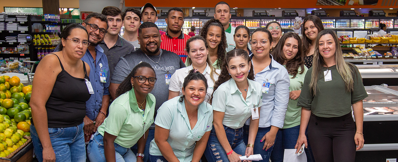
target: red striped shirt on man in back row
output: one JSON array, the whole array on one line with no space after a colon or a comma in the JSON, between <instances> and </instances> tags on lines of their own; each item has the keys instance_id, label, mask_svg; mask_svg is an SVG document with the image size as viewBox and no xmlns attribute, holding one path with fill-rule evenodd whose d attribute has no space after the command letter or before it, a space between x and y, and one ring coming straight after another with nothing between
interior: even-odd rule
<instances>
[{"instance_id":1,"label":"red striped shirt on man in back row","mask_svg":"<svg viewBox=\"0 0 398 162\"><path fill-rule=\"evenodd\" d=\"M189 38L191 38L191 36L186 35L182 32L181 35L179 35L179 37L176 38L170 37L168 33L166 33L161 37L162 42L160 43L160 48L178 54L181 60L185 62L185 60L187 60L187 52L185 51L185 45Z\"/></svg>"}]
</instances>

